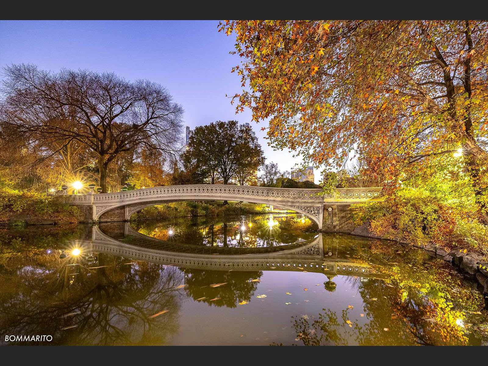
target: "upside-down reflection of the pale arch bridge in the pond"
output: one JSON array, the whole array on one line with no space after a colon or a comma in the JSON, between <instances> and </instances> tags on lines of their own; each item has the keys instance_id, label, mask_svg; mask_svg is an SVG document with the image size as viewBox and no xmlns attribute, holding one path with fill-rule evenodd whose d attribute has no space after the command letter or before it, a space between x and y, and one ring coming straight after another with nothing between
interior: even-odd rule
<instances>
[{"instance_id":1,"label":"upside-down reflection of the pale arch bridge in the pond","mask_svg":"<svg viewBox=\"0 0 488 366\"><path fill-rule=\"evenodd\" d=\"M105 232L104 232L105 231ZM108 231L108 232L107 232ZM178 244L151 238L121 223L119 230L91 226L79 245L85 250L149 263L215 271L299 271L386 278L367 263L351 260L337 238L318 233L311 240L272 247L220 247Z\"/></svg>"}]
</instances>

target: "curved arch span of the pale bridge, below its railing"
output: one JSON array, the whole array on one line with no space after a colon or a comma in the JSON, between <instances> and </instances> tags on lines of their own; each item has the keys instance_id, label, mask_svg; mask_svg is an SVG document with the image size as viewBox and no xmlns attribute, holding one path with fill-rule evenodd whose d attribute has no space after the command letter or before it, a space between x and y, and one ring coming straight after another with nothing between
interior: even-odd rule
<instances>
[{"instance_id":1,"label":"curved arch span of the pale bridge, below its railing","mask_svg":"<svg viewBox=\"0 0 488 366\"><path fill-rule=\"evenodd\" d=\"M168 199L157 199L157 200L148 200L142 201L138 200L134 203L120 203L120 204L113 204L110 206L100 206L96 209L96 214L94 219L100 221L128 221L130 217L136 213L137 211L142 210L146 207L155 206L158 204L164 203L172 203L172 202L189 202L189 201L238 201L238 202L246 202L246 203L258 203L258 204L268 204L273 206L282 207L287 210L292 210L297 213L303 214L308 217L313 222L317 223L319 228L322 227L322 216L323 216L323 204L300 204L300 203L293 203L293 202L283 202L283 201L274 201L274 200L266 200L266 199L249 199L245 198L242 200L236 199L236 197L188 197L188 198L168 198ZM110 215L111 212L117 211L116 215ZM114 218L115 217L115 218Z\"/></svg>"}]
</instances>

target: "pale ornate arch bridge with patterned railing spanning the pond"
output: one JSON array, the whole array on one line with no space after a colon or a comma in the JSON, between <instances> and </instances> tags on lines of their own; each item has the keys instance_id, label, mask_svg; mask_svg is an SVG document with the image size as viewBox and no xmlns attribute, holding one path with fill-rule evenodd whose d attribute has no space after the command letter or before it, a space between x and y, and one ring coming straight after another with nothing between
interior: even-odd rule
<instances>
[{"instance_id":1,"label":"pale ornate arch bridge with patterned railing spanning the pond","mask_svg":"<svg viewBox=\"0 0 488 366\"><path fill-rule=\"evenodd\" d=\"M248 185L192 184L136 189L125 192L67 195L66 203L83 212L81 222L128 221L133 213L155 204L176 201L243 201L279 206L301 213L319 229L350 231L347 207L351 203L379 201L381 187L339 188L324 194L321 189L270 188ZM343 220L341 220L343 219ZM350 226L350 225L349 225Z\"/></svg>"}]
</instances>

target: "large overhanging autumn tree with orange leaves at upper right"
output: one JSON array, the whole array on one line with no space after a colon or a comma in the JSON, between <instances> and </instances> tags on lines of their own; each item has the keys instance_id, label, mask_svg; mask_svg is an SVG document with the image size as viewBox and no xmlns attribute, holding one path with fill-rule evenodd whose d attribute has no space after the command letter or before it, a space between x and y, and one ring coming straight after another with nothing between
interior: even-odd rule
<instances>
[{"instance_id":1,"label":"large overhanging autumn tree with orange leaves at upper right","mask_svg":"<svg viewBox=\"0 0 488 366\"><path fill-rule=\"evenodd\" d=\"M463 154L488 222L488 22L225 20L243 90L236 112L269 119L267 136L315 165L358 155L399 177Z\"/></svg>"}]
</instances>

